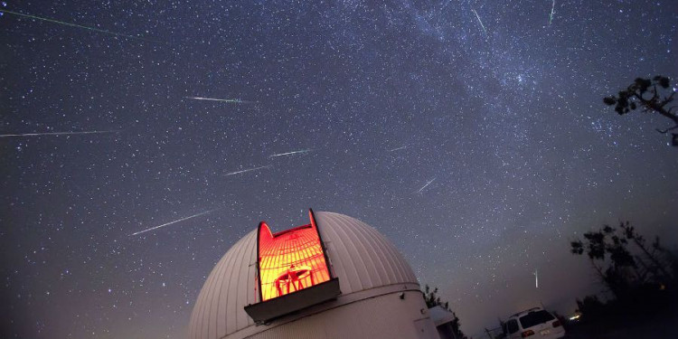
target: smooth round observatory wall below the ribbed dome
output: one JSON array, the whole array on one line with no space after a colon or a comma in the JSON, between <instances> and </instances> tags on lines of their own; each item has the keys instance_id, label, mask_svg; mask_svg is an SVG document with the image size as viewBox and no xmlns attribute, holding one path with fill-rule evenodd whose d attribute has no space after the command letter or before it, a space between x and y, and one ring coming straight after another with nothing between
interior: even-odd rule
<instances>
[{"instance_id":1,"label":"smooth round observatory wall below the ribbed dome","mask_svg":"<svg viewBox=\"0 0 678 339\"><path fill-rule=\"evenodd\" d=\"M438 332L428 317L428 308L421 293L402 293L404 299L400 299L400 292L363 299L272 327L247 338L438 339Z\"/></svg>"}]
</instances>

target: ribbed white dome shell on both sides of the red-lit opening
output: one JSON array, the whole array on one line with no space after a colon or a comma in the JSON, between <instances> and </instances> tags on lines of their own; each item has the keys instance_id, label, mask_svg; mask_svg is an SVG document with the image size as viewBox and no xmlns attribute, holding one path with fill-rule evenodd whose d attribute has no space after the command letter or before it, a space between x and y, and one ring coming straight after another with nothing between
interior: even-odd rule
<instances>
[{"instance_id":1,"label":"ribbed white dome shell on both sides of the red-lit opening","mask_svg":"<svg viewBox=\"0 0 678 339\"><path fill-rule=\"evenodd\" d=\"M416 285L417 278L398 250L363 221L334 212L315 212L315 222L334 277L342 291L337 302L374 297L379 288ZM217 339L254 325L244 307L259 302L256 290L257 230L239 240L219 260L202 286L189 325L189 338ZM373 290L370 293L368 290ZM356 294L357 292L363 293ZM353 295L353 296L352 296Z\"/></svg>"}]
</instances>

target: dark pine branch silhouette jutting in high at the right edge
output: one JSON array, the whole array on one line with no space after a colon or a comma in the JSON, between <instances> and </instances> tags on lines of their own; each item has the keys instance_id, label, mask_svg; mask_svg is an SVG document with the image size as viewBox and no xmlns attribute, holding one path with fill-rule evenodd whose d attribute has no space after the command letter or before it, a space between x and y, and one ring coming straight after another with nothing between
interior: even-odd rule
<instances>
[{"instance_id":1,"label":"dark pine branch silhouette jutting in high at the right edge","mask_svg":"<svg viewBox=\"0 0 678 339\"><path fill-rule=\"evenodd\" d=\"M676 90L669 89L670 87L671 80L661 75L655 76L652 80L636 78L626 89L620 90L617 96L606 97L603 102L607 106L615 106L615 111L620 116L636 108L642 108L645 113L656 112L669 118L673 122L673 127L656 129L659 133L667 134L671 130L678 129L678 115L676 111L673 111L678 106L669 107ZM671 144L678 146L678 133L671 133L671 135Z\"/></svg>"}]
</instances>

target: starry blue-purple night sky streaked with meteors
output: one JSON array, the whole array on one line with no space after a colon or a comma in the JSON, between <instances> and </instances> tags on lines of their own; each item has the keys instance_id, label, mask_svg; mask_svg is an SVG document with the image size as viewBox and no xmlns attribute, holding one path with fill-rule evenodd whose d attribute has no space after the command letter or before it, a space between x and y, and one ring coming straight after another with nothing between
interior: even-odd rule
<instances>
[{"instance_id":1,"label":"starry blue-purple night sky streaked with meteors","mask_svg":"<svg viewBox=\"0 0 678 339\"><path fill-rule=\"evenodd\" d=\"M676 86L674 0L1 6L0 134L56 133L0 137L2 337L182 338L231 245L309 207L474 336L600 292L584 231L678 243L670 121L602 102Z\"/></svg>"}]
</instances>

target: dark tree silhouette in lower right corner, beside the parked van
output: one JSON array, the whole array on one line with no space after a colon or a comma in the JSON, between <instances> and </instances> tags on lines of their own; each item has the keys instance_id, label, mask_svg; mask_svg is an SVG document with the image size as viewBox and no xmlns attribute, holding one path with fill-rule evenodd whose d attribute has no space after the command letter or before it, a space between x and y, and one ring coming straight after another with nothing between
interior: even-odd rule
<instances>
[{"instance_id":1,"label":"dark tree silhouette in lower right corner, beside the parked van","mask_svg":"<svg viewBox=\"0 0 678 339\"><path fill-rule=\"evenodd\" d=\"M611 330L678 314L678 259L660 245L659 238L650 244L628 221L619 222L586 232L583 240L570 241L570 251L589 257L598 278L614 296L605 302L597 296L577 299L583 315L578 324L595 331Z\"/></svg>"}]
</instances>

